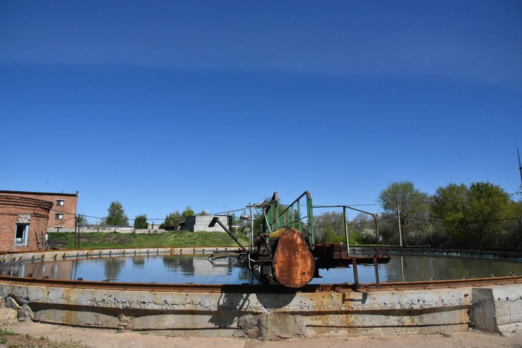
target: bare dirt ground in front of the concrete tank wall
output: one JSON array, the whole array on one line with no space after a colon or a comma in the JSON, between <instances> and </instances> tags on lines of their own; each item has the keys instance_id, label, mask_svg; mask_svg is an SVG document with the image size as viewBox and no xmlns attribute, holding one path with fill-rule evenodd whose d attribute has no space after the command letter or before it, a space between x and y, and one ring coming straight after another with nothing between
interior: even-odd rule
<instances>
[{"instance_id":1,"label":"bare dirt ground in front of the concrete tank wall","mask_svg":"<svg viewBox=\"0 0 522 348\"><path fill-rule=\"evenodd\" d=\"M2 334L4 332L4 334ZM5 334L13 332L15 334ZM3 339L5 338L5 339ZM0 309L0 347L186 347L186 348L252 348L293 347L326 348L351 346L379 347L522 347L522 335L502 337L493 333L467 331L451 334L401 335L358 338L321 338L283 341L256 341L237 338L167 337L140 332L117 332L109 329L74 328L61 325L20 323L13 309Z\"/></svg>"}]
</instances>

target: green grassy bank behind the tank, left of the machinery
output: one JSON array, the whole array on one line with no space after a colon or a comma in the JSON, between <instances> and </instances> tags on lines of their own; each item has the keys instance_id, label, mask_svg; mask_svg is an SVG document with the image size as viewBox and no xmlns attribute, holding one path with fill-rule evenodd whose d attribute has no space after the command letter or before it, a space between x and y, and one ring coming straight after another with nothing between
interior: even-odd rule
<instances>
[{"instance_id":1,"label":"green grassy bank behind the tank, left of the machinery","mask_svg":"<svg viewBox=\"0 0 522 348\"><path fill-rule=\"evenodd\" d=\"M74 233L50 232L49 246L66 249L74 248ZM247 239L243 235L238 236L243 244ZM81 248L104 247L169 247L169 246L235 246L235 242L227 233L221 232L186 232L169 231L157 234L133 234L133 233L81 233Z\"/></svg>"}]
</instances>

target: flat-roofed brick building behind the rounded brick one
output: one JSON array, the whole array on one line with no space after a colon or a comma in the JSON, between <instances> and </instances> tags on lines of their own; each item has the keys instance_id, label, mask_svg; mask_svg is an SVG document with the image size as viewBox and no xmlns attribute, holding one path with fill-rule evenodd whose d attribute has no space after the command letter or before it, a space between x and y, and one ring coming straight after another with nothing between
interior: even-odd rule
<instances>
[{"instance_id":1,"label":"flat-roofed brick building behind the rounded brick one","mask_svg":"<svg viewBox=\"0 0 522 348\"><path fill-rule=\"evenodd\" d=\"M49 213L49 229L74 228L78 191L76 193L27 192L0 190L0 195L34 198L49 201L53 207Z\"/></svg>"}]
</instances>

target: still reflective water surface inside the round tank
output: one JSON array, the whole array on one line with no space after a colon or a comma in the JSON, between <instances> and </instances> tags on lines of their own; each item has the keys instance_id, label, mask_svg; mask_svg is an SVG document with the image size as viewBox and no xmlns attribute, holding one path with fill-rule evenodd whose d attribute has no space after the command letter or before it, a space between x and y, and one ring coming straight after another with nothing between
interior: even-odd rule
<instances>
[{"instance_id":1,"label":"still reflective water surface inside the round tank","mask_svg":"<svg viewBox=\"0 0 522 348\"><path fill-rule=\"evenodd\" d=\"M213 264L207 256L168 255L108 258L79 258L52 262L5 265L3 275L15 277L109 280L123 282L240 284L252 283L252 274L245 267L228 259ZM375 281L373 265L358 266L359 281ZM351 268L322 269L323 278L312 283L353 282ZM522 263L471 257L392 256L386 265L379 265L381 281L418 281L434 279L481 278L522 274Z\"/></svg>"}]
</instances>

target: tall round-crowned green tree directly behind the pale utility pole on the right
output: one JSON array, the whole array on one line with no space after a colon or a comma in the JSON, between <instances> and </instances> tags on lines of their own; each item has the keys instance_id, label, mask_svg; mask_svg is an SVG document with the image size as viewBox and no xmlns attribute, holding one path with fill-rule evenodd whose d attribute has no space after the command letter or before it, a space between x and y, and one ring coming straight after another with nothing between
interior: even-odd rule
<instances>
[{"instance_id":1,"label":"tall round-crowned green tree directly behind the pale utility pole on the right","mask_svg":"<svg viewBox=\"0 0 522 348\"><path fill-rule=\"evenodd\" d=\"M412 241L419 240L418 234L423 234L426 224L416 219L429 218L429 200L430 196L416 189L411 181L392 182L379 193L378 202L383 205L386 215L397 214L399 206L402 245L407 244L410 234ZM393 230L398 236L398 227L393 227Z\"/></svg>"}]
</instances>

